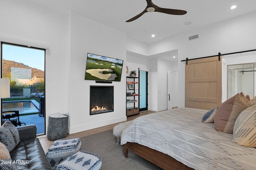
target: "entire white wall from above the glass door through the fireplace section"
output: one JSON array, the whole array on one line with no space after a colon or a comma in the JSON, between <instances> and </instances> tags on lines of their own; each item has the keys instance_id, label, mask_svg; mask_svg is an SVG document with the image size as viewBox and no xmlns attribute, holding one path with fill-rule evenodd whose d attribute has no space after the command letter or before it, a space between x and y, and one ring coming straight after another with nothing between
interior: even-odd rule
<instances>
[{"instance_id":1,"label":"entire white wall from above the glass door through the fireplace section","mask_svg":"<svg viewBox=\"0 0 256 170\"><path fill-rule=\"evenodd\" d=\"M125 33L31 2L1 0L0 3L0 41L47 48L46 127L48 116L56 112L70 115L69 133L126 120ZM90 85L105 84L84 80L88 52L124 60L121 82L111 84L114 86L113 112L89 115Z\"/></svg>"}]
</instances>

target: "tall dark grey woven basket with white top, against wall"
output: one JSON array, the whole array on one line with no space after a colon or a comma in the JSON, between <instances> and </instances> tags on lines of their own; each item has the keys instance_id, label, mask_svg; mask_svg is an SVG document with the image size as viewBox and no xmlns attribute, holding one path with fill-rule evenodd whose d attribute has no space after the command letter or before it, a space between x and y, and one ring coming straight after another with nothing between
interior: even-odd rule
<instances>
[{"instance_id":1,"label":"tall dark grey woven basket with white top, against wall","mask_svg":"<svg viewBox=\"0 0 256 170\"><path fill-rule=\"evenodd\" d=\"M53 114L49 116L47 138L49 140L62 139L68 134L68 115Z\"/></svg>"}]
</instances>

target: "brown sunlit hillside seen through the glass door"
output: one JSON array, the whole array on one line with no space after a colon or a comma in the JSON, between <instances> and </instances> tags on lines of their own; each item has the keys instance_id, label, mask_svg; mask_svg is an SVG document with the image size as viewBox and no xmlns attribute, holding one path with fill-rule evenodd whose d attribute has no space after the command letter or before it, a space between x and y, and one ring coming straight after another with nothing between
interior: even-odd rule
<instances>
[{"instance_id":1,"label":"brown sunlit hillside seen through the glass door","mask_svg":"<svg viewBox=\"0 0 256 170\"><path fill-rule=\"evenodd\" d=\"M9 61L9 60L3 59L3 77L4 78L10 78L11 77L11 68L12 67L31 69L31 72L32 72L31 77L32 78L34 76L36 76L37 78L44 78L44 71L42 71L42 70L26 66L23 63L17 63L15 61Z\"/></svg>"}]
</instances>

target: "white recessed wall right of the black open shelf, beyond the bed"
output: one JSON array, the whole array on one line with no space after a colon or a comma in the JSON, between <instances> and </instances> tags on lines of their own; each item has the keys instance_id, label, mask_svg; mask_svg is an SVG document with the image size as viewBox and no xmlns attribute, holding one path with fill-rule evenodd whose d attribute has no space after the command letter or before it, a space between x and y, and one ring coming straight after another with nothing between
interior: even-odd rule
<instances>
[{"instance_id":1,"label":"white recessed wall right of the black open shelf, beyond the bed","mask_svg":"<svg viewBox=\"0 0 256 170\"><path fill-rule=\"evenodd\" d=\"M148 110L161 111L168 109L168 70L177 71L177 62L163 59L146 59L146 56L129 54L126 57L127 66L130 70L138 68L148 70ZM129 76L129 73L126 74ZM137 75L138 76L138 75Z\"/></svg>"}]
</instances>

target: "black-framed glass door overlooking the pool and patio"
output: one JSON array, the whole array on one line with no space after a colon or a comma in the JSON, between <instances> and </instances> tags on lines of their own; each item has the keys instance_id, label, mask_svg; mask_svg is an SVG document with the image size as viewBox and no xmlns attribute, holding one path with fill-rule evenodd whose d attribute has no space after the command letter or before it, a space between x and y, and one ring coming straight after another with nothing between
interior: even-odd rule
<instances>
[{"instance_id":1,"label":"black-framed glass door overlooking the pool and patio","mask_svg":"<svg viewBox=\"0 0 256 170\"><path fill-rule=\"evenodd\" d=\"M37 134L45 134L45 49L2 42L1 57L1 76L10 80L1 123L10 119L16 126L35 124Z\"/></svg>"}]
</instances>

